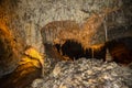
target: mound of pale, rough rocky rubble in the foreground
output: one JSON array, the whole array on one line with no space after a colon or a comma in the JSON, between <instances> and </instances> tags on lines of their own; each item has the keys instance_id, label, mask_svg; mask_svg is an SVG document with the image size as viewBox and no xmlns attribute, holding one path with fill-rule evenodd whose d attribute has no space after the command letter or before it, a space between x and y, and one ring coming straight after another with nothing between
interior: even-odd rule
<instances>
[{"instance_id":1,"label":"mound of pale, rough rocky rubble in the foreground","mask_svg":"<svg viewBox=\"0 0 132 88\"><path fill-rule=\"evenodd\" d=\"M31 88L131 88L132 69L116 63L80 58L59 62L44 79L33 81Z\"/></svg>"}]
</instances>

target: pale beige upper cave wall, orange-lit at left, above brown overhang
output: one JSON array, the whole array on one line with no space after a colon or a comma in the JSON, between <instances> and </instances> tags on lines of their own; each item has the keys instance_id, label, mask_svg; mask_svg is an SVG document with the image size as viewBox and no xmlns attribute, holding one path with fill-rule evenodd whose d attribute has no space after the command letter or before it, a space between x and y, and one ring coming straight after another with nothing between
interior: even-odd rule
<instances>
[{"instance_id":1,"label":"pale beige upper cave wall, orange-lit at left, above brown overhang","mask_svg":"<svg viewBox=\"0 0 132 88\"><path fill-rule=\"evenodd\" d=\"M120 8L122 4L122 0L1 0L0 21L6 22L25 44L43 53L40 30L48 22L74 20L84 23L92 13L101 13L105 8ZM97 37L99 35L95 40Z\"/></svg>"}]
</instances>

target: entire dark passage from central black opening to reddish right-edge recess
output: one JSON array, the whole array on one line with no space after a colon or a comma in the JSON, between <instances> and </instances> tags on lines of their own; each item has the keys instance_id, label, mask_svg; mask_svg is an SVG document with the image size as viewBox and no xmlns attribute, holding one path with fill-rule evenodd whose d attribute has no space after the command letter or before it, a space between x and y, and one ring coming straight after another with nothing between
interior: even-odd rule
<instances>
[{"instance_id":1,"label":"entire dark passage from central black opening to reddish right-edge recess","mask_svg":"<svg viewBox=\"0 0 132 88\"><path fill-rule=\"evenodd\" d=\"M78 43L74 40L67 40L62 46L56 44L55 47L57 52L63 56L67 56L70 59L78 59L81 57L86 58L97 58L103 59L106 58L106 51L110 52L111 62L116 62L118 64L128 65L132 62L132 37L121 37L109 41L103 45L92 45L88 48L84 48L81 43Z\"/></svg>"}]
</instances>

